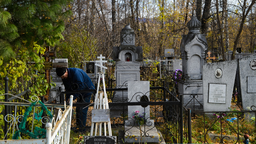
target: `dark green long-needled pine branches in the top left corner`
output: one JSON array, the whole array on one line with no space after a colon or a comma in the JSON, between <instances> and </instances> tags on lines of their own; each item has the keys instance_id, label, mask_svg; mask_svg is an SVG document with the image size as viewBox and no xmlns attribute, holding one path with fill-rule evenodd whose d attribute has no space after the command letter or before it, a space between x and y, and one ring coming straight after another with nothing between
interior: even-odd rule
<instances>
[{"instance_id":1,"label":"dark green long-needled pine branches in the top left corner","mask_svg":"<svg viewBox=\"0 0 256 144\"><path fill-rule=\"evenodd\" d=\"M69 0L3 0L0 5L0 56L7 63L24 47L35 43L54 46L63 39L63 11Z\"/></svg>"}]
</instances>

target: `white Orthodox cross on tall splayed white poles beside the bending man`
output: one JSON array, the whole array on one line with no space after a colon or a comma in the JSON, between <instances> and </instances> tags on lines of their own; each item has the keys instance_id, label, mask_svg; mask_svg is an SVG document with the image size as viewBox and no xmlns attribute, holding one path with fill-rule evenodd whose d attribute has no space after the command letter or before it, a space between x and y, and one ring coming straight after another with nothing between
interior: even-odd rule
<instances>
[{"instance_id":1,"label":"white Orthodox cross on tall splayed white poles beside the bending man","mask_svg":"<svg viewBox=\"0 0 256 144\"><path fill-rule=\"evenodd\" d=\"M111 131L111 123L110 123L110 110L108 108L108 99L107 99L107 92L106 92L106 87L105 87L105 78L104 78L104 73L102 72L102 68L107 69L106 66L103 66L102 63L106 63L106 60L102 60L105 59L105 57L102 57L102 55L100 55L100 57L97 57L100 60L96 60L96 66L100 67L100 73L98 73L98 85L97 85L97 92L95 95L95 103L94 103L94 109L92 110L92 112L94 110L100 110L102 112L98 113L98 115L100 116L96 116L96 117L100 117L100 119L97 118L93 118L95 116L93 116L92 113L92 123L91 123L91 132L90 132L90 136L93 135L94 132L94 124L95 124L95 133L94 136L96 136L98 134L98 136L102 135L102 123L104 124L104 136L107 136L107 132L106 132L106 124L108 126L108 134L109 136L112 136L112 131ZM100 64L97 64L100 63ZM100 80L102 78L102 85L103 85L103 91L102 91L102 87L100 87ZM100 91L99 91L100 90ZM108 111L108 116L104 116L105 111ZM103 113L103 115L102 115Z\"/></svg>"}]
</instances>

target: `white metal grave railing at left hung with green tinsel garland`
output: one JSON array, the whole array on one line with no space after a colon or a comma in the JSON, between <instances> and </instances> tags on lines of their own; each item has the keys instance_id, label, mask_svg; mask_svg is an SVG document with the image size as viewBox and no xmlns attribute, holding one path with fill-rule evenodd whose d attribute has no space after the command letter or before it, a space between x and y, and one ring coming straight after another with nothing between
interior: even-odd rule
<instances>
[{"instance_id":1,"label":"white metal grave railing at left hung with green tinsel garland","mask_svg":"<svg viewBox=\"0 0 256 144\"><path fill-rule=\"evenodd\" d=\"M0 102L0 107L4 105L9 109L4 117L8 129L5 140L0 140L1 144L69 144L73 95L70 96L68 106L66 103L43 104L37 96L32 96L30 101L23 101ZM23 115L18 112L20 107Z\"/></svg>"}]
</instances>

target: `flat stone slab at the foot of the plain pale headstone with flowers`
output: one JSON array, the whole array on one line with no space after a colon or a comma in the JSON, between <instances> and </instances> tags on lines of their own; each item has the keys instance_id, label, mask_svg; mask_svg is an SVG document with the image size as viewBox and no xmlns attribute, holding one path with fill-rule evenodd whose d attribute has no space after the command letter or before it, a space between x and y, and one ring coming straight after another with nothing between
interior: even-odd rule
<instances>
[{"instance_id":1,"label":"flat stone slab at the foot of the plain pale headstone with flowers","mask_svg":"<svg viewBox=\"0 0 256 144\"><path fill-rule=\"evenodd\" d=\"M126 127L124 130L128 134L124 137L125 143L144 143L144 137L141 138L139 127ZM148 135L145 137L146 143L159 143L160 136L154 126L142 126L142 130Z\"/></svg>"}]
</instances>

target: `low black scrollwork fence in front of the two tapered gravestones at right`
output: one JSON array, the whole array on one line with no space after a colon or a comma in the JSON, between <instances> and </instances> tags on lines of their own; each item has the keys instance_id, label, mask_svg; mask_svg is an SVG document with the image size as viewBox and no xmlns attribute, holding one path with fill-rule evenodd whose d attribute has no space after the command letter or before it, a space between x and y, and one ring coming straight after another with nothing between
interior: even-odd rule
<instances>
[{"instance_id":1,"label":"low black scrollwork fence in front of the two tapered gravestones at right","mask_svg":"<svg viewBox=\"0 0 256 144\"><path fill-rule=\"evenodd\" d=\"M197 115L192 128L196 141L203 143L244 143L244 134L250 135L250 141L255 144L256 137L256 107L247 111L222 112L192 112ZM201 126L201 129L196 129ZM197 136L198 135L198 136Z\"/></svg>"}]
</instances>

